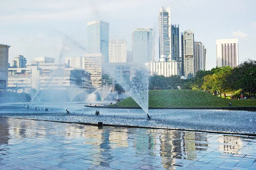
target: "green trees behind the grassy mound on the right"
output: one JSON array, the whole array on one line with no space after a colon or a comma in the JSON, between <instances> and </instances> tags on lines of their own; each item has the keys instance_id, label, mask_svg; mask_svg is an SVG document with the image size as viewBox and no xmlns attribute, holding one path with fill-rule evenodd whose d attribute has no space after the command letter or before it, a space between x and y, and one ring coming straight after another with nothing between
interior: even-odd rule
<instances>
[{"instance_id":1,"label":"green trees behind the grassy mound on the right","mask_svg":"<svg viewBox=\"0 0 256 170\"><path fill-rule=\"evenodd\" d=\"M236 68L230 66L200 70L195 77L180 79L178 75L162 75L149 78L149 90L154 89L197 89L207 92L234 92L239 89L248 95L256 95L256 61L247 60Z\"/></svg>"}]
</instances>

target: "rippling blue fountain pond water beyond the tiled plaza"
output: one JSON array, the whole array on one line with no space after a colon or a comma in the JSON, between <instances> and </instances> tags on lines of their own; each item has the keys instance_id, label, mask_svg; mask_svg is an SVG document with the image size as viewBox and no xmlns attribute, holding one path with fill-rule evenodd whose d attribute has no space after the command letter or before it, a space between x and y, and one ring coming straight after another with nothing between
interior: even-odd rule
<instances>
[{"instance_id":1,"label":"rippling blue fountain pond water beyond the tiled plaza","mask_svg":"<svg viewBox=\"0 0 256 170\"><path fill-rule=\"evenodd\" d=\"M140 127L206 130L231 133L256 133L256 112L197 109L149 109L151 119L142 109L105 109L84 107L81 103L1 104L0 116L54 121L131 125ZM37 109L35 109L37 107ZM48 111L45 111L48 108ZM70 112L67 114L66 109ZM96 110L100 115L95 115Z\"/></svg>"}]
</instances>

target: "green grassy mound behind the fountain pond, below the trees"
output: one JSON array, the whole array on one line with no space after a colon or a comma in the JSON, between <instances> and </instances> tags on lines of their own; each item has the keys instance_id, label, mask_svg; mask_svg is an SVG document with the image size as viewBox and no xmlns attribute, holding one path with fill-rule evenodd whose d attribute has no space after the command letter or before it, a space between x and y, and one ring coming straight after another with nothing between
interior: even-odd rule
<instances>
[{"instance_id":1,"label":"green grassy mound behind the fountain pond, below the trees","mask_svg":"<svg viewBox=\"0 0 256 170\"><path fill-rule=\"evenodd\" d=\"M230 100L197 90L150 90L149 107L228 107L256 106L256 100ZM118 103L119 107L139 107L130 97Z\"/></svg>"}]
</instances>

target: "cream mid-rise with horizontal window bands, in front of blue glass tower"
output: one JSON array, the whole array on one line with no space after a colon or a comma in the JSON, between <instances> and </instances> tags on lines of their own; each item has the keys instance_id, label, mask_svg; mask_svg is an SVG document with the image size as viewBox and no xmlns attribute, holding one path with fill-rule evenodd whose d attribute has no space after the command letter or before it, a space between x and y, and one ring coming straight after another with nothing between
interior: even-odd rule
<instances>
[{"instance_id":1,"label":"cream mid-rise with horizontal window bands, in front of blue glass tower","mask_svg":"<svg viewBox=\"0 0 256 170\"><path fill-rule=\"evenodd\" d=\"M100 88L102 74L104 74L104 69L102 63L104 63L105 56L102 53L90 53L85 54L83 57L83 68L90 72L92 80L92 85Z\"/></svg>"}]
</instances>

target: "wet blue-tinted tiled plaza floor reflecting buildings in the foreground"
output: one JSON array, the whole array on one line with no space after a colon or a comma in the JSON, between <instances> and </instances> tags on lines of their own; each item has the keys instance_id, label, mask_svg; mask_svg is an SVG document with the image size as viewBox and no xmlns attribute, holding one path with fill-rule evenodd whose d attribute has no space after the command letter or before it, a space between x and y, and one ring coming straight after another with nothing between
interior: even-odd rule
<instances>
[{"instance_id":1,"label":"wet blue-tinted tiled plaza floor reflecting buildings in the foreground","mask_svg":"<svg viewBox=\"0 0 256 170\"><path fill-rule=\"evenodd\" d=\"M256 170L256 136L0 118L0 169Z\"/></svg>"}]
</instances>

